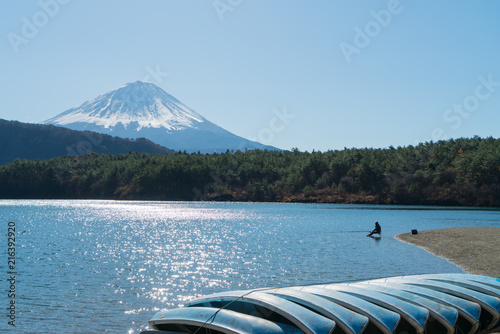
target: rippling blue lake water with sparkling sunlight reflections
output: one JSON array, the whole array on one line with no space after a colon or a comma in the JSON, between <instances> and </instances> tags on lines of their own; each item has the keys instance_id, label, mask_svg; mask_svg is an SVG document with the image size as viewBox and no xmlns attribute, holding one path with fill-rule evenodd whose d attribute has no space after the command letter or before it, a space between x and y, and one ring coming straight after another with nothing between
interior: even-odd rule
<instances>
[{"instance_id":1,"label":"rippling blue lake water with sparkling sunlight reflections","mask_svg":"<svg viewBox=\"0 0 500 334\"><path fill-rule=\"evenodd\" d=\"M223 290L462 272L394 236L500 227L500 211L3 200L0 220L0 331L139 333L156 311ZM17 234L15 328L6 317L10 221ZM380 240L366 237L375 221Z\"/></svg>"}]
</instances>

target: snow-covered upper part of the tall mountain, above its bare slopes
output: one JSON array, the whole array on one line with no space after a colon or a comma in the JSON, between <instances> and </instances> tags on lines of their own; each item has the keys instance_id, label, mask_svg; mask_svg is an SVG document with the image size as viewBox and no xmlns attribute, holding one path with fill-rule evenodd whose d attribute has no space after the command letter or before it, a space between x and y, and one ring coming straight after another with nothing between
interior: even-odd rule
<instances>
[{"instance_id":1,"label":"snow-covered upper part of the tall mountain, above its bare slopes","mask_svg":"<svg viewBox=\"0 0 500 334\"><path fill-rule=\"evenodd\" d=\"M44 123L62 126L91 123L104 128L119 123L128 128L133 123L137 131L142 128L172 131L197 128L199 123L205 121L203 116L158 86L136 81L69 109Z\"/></svg>"}]
</instances>

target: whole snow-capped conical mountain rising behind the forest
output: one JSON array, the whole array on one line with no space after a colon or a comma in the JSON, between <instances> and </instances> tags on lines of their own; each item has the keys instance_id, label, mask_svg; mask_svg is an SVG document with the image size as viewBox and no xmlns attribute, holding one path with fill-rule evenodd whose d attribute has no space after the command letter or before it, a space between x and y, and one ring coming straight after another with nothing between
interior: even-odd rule
<instances>
[{"instance_id":1,"label":"whole snow-capped conical mountain rising behind the forest","mask_svg":"<svg viewBox=\"0 0 500 334\"><path fill-rule=\"evenodd\" d=\"M176 151L279 150L224 130L160 87L141 81L128 83L42 123L124 138L143 137Z\"/></svg>"}]
</instances>

